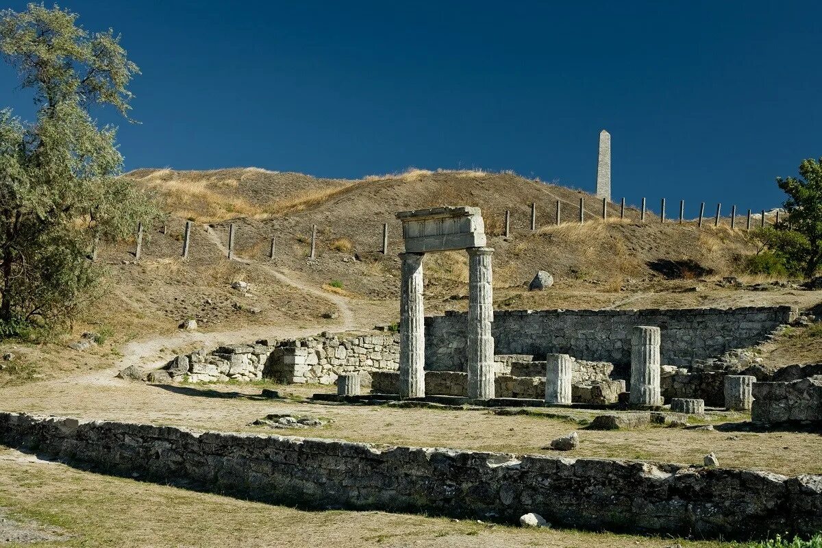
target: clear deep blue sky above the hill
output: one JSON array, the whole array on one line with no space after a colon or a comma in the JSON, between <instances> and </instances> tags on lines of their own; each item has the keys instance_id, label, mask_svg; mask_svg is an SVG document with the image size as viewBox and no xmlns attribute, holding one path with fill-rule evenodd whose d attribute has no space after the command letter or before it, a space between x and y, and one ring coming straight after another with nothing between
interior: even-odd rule
<instances>
[{"instance_id":1,"label":"clear deep blue sky above the hill","mask_svg":"<svg viewBox=\"0 0 822 548\"><path fill-rule=\"evenodd\" d=\"M822 2L61 6L141 67L127 169L477 167L593 191L606 128L615 200L692 216L777 205L774 177L822 156ZM13 77L0 106L29 117Z\"/></svg>"}]
</instances>

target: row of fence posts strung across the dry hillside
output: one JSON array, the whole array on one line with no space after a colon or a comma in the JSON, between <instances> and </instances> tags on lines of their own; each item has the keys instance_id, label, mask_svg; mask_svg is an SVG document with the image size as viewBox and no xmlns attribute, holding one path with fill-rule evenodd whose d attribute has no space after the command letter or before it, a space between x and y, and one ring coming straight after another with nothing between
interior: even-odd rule
<instances>
[{"instance_id":1,"label":"row of fence posts strung across the dry hillside","mask_svg":"<svg viewBox=\"0 0 822 548\"><path fill-rule=\"evenodd\" d=\"M607 220L608 218L608 200L606 198L602 199L603 209L602 209L602 219ZM640 222L645 222L645 207L646 201L643 198L641 205L640 205ZM556 220L555 223L557 226L561 224L561 200L556 200ZM580 223L585 222L585 199L584 197L580 197ZM700 216L697 220L697 226L702 227L703 219L705 213L705 203L700 203ZM713 217L713 226L719 226L719 219L721 218L722 213L722 204L717 204L716 214ZM620 201L620 219L625 219L625 198L622 198ZM505 228L503 235L507 238L510 237L510 219L511 214L510 210L506 210L505 213ZM537 230L537 203L531 202L531 223L530 228L531 232L536 232ZM737 221L737 206L731 206L731 229L736 228L736 221ZM665 223L665 198L662 199L660 203L660 214L659 214L659 222ZM679 224L685 222L685 200L679 200ZM779 212L776 212L776 219L774 223L779 223ZM751 212L748 210L747 214L747 223L746 223L746 230L750 231L751 226ZM764 228L765 226L765 210L762 210L761 218L760 218L760 228ZM228 257L229 260L234 258L234 236L236 234L237 228L234 223L229 224L229 251ZM163 233L166 233L165 224L163 225ZM185 232L182 236L182 258L188 258L188 252L191 248L191 241L192 241L192 221L186 221L186 228ZM142 245L143 245L143 223L137 223L137 237L136 237L136 249L134 251L135 260L140 260L142 254ZM269 257L274 259L276 251L276 239L275 237L271 237L271 245L269 251ZM382 254L388 255L388 223L382 224ZM96 246L95 246L95 253L92 257L94 260L96 257ZM311 231L311 250L308 256L309 260L316 260L316 224L312 225Z\"/></svg>"}]
</instances>

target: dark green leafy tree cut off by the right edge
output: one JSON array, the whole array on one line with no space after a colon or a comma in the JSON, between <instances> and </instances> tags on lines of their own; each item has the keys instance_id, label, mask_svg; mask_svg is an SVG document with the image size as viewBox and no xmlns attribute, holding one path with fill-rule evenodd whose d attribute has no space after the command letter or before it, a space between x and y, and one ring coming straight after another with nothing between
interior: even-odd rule
<instances>
[{"instance_id":1,"label":"dark green leafy tree cut off by the right edge","mask_svg":"<svg viewBox=\"0 0 822 548\"><path fill-rule=\"evenodd\" d=\"M805 246L792 250L792 257L803 265L803 273L810 278L822 265L822 159L802 160L799 175L777 177L776 182L788 196L784 208L791 231L806 241Z\"/></svg>"}]
</instances>

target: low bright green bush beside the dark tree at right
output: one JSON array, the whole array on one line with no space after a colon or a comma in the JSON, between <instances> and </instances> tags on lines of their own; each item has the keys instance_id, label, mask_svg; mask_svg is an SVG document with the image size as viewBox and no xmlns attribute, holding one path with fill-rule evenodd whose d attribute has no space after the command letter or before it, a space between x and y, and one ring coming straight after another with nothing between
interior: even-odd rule
<instances>
[{"instance_id":1,"label":"low bright green bush beside the dark tree at right","mask_svg":"<svg viewBox=\"0 0 822 548\"><path fill-rule=\"evenodd\" d=\"M760 242L760 250L755 256L745 258L747 272L774 277L804 274L810 246L804 235L787 227L765 227L756 230L753 237Z\"/></svg>"}]
</instances>

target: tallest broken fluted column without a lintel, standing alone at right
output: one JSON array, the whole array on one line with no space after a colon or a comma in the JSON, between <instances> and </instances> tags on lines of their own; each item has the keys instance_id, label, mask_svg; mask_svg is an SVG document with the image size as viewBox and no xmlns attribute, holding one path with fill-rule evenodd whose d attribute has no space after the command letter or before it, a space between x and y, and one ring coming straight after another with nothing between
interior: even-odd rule
<instances>
[{"instance_id":1,"label":"tallest broken fluted column without a lintel, standing alone at right","mask_svg":"<svg viewBox=\"0 0 822 548\"><path fill-rule=\"evenodd\" d=\"M659 389L658 327L638 325L630 333L630 404L634 407L662 405Z\"/></svg>"}]
</instances>

